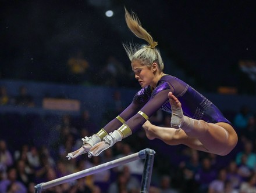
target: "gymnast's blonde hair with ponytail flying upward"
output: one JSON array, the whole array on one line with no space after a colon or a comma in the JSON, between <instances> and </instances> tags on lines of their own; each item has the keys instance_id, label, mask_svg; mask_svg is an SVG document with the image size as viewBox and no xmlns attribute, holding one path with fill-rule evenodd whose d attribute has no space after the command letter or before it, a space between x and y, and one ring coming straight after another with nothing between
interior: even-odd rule
<instances>
[{"instance_id":1,"label":"gymnast's blonde hair with ponytail flying upward","mask_svg":"<svg viewBox=\"0 0 256 193\"><path fill-rule=\"evenodd\" d=\"M152 63L157 63L161 71L163 71L163 61L161 54L157 46L157 42L151 37L151 35L141 26L140 20L134 12L131 14L125 8L125 21L131 32L133 32L136 37L144 39L148 42L148 46L134 45L133 43L123 44L126 53L130 61L140 60L143 65L151 67Z\"/></svg>"}]
</instances>

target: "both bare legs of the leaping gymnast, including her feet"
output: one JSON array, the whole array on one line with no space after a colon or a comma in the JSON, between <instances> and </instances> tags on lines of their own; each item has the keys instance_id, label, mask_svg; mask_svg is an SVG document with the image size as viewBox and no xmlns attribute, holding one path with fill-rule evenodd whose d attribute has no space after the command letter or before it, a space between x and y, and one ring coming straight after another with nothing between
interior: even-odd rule
<instances>
[{"instance_id":1,"label":"both bare legs of the leaping gymnast, including her feet","mask_svg":"<svg viewBox=\"0 0 256 193\"><path fill-rule=\"evenodd\" d=\"M156 137L170 145L184 144L217 155L227 155L233 150L237 144L237 134L231 125L207 123L184 116L180 101L172 93L168 97L172 105L171 125L180 129L152 126L146 122L143 128L150 139Z\"/></svg>"}]
</instances>

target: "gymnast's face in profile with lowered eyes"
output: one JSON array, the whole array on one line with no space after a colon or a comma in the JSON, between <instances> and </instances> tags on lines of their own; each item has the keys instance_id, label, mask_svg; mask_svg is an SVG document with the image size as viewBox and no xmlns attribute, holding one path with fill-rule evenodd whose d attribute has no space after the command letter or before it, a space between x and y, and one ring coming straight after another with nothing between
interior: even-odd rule
<instances>
[{"instance_id":1,"label":"gymnast's face in profile with lowered eyes","mask_svg":"<svg viewBox=\"0 0 256 193\"><path fill-rule=\"evenodd\" d=\"M154 66L155 65L152 64L151 67L147 67L147 65L141 63L140 60L134 60L131 62L131 68L135 74L135 78L137 79L138 83L140 83L142 88L148 85L154 85Z\"/></svg>"}]
</instances>

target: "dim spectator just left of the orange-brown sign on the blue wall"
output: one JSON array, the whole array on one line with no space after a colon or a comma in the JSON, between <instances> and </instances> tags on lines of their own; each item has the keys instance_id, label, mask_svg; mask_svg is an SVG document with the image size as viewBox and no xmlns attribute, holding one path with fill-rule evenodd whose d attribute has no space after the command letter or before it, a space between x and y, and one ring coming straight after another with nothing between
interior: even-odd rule
<instances>
[{"instance_id":1,"label":"dim spectator just left of the orange-brown sign on the blue wall","mask_svg":"<svg viewBox=\"0 0 256 193\"><path fill-rule=\"evenodd\" d=\"M20 86L19 94L15 97L15 105L23 107L34 107L34 99L29 93L27 93L26 86Z\"/></svg>"}]
</instances>

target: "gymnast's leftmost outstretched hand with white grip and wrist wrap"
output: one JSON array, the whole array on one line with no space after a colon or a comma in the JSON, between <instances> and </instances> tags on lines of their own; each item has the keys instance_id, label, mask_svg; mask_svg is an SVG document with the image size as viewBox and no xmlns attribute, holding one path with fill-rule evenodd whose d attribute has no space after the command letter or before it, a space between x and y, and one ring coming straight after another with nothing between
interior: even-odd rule
<instances>
[{"instance_id":1,"label":"gymnast's leftmost outstretched hand with white grip and wrist wrap","mask_svg":"<svg viewBox=\"0 0 256 193\"><path fill-rule=\"evenodd\" d=\"M69 154L67 154L67 159L74 159L79 155L86 154L88 151L90 151L91 147L93 147L95 144L99 143L101 139L97 134L94 134L91 137L84 137L83 139L83 146L79 148L79 150L73 151Z\"/></svg>"}]
</instances>

